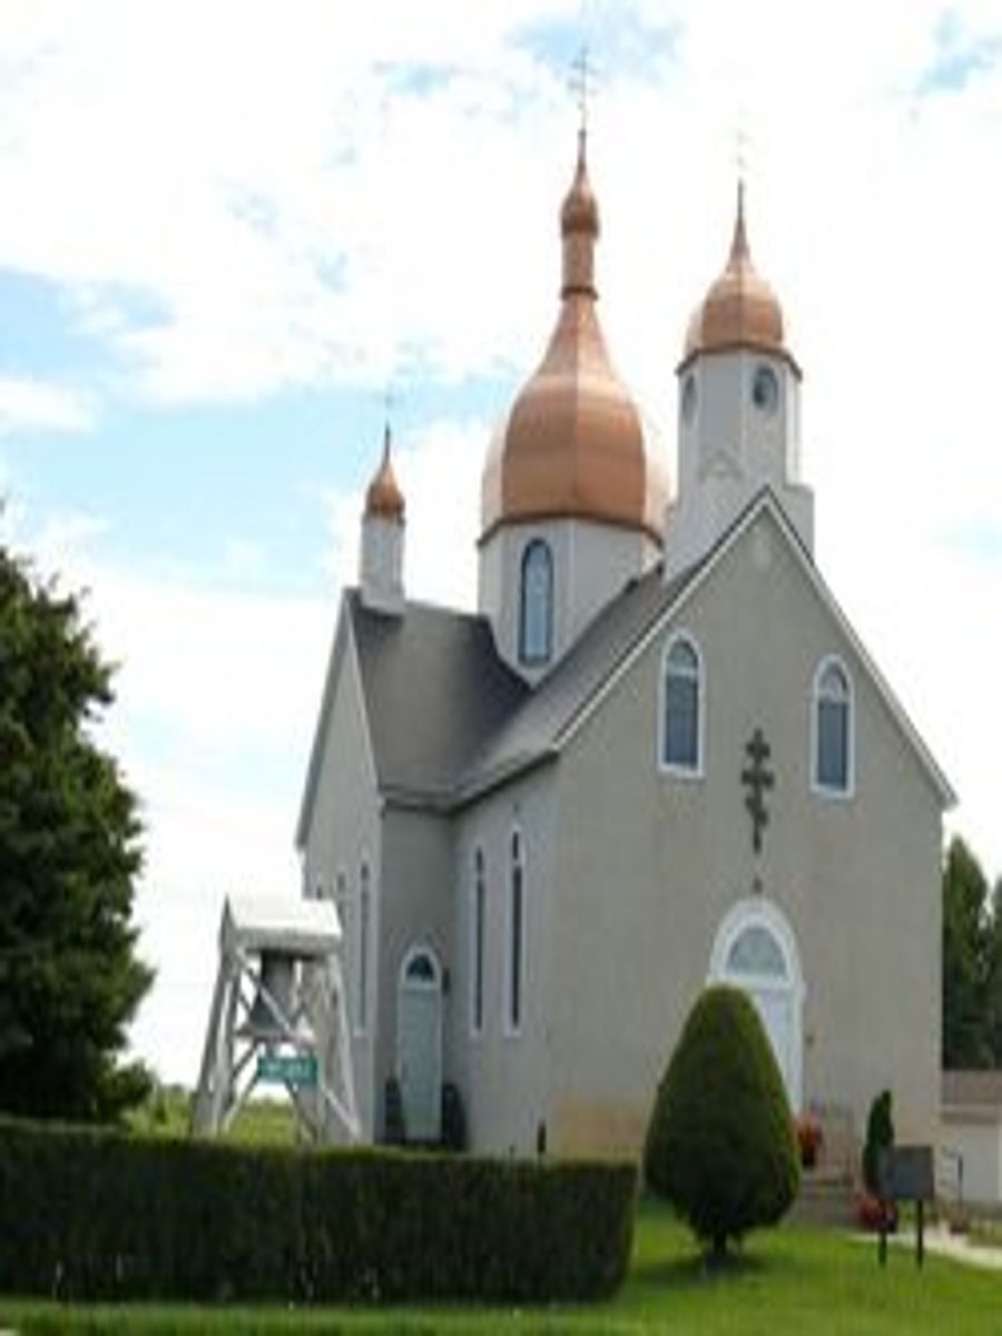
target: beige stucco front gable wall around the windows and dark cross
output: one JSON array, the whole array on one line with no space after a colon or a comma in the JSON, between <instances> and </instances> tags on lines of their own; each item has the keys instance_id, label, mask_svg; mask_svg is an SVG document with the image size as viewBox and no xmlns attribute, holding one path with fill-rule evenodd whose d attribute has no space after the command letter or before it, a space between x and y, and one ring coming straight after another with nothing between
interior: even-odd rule
<instances>
[{"instance_id":1,"label":"beige stucco front gable wall around the windows and dark cross","mask_svg":"<svg viewBox=\"0 0 1002 1336\"><path fill-rule=\"evenodd\" d=\"M703 778L659 768L659 680L684 628L705 669ZM811 688L838 655L855 688L855 792L810 783ZM756 728L775 788L760 854L740 772ZM894 1093L903 1140L934 1140L939 1085L939 795L800 558L763 512L609 689L558 766L556 1140L636 1140L717 929L763 895L796 939L804 1102Z\"/></svg>"}]
</instances>

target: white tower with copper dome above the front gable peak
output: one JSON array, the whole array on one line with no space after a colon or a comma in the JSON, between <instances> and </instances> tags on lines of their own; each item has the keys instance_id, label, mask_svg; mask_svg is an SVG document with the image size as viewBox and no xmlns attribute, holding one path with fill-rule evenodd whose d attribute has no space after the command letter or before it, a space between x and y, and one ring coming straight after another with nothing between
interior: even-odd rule
<instances>
[{"instance_id":1,"label":"white tower with copper dome above the front gable peak","mask_svg":"<svg viewBox=\"0 0 1002 1336\"><path fill-rule=\"evenodd\" d=\"M743 183L727 266L692 315L677 377L679 486L665 525L665 578L708 552L766 486L812 553L800 367L779 301L751 261Z\"/></svg>"}]
</instances>

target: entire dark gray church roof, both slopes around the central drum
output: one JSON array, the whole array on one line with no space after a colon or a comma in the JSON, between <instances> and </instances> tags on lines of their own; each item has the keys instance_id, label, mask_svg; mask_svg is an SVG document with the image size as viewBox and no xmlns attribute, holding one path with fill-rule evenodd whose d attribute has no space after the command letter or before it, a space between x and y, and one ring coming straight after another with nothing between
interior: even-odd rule
<instances>
[{"instance_id":1,"label":"entire dark gray church roof, both slopes around the central drum","mask_svg":"<svg viewBox=\"0 0 1002 1336\"><path fill-rule=\"evenodd\" d=\"M386 616L351 593L379 787L448 804L552 755L695 569L667 585L660 566L631 581L536 688L498 656L486 617L415 603Z\"/></svg>"}]
</instances>

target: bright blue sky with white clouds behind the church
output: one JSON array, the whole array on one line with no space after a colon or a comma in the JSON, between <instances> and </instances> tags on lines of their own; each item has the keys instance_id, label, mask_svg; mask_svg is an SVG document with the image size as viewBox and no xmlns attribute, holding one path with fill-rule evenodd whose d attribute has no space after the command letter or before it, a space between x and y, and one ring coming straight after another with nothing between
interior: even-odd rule
<instances>
[{"instance_id":1,"label":"bright blue sky with white clouds behind the church","mask_svg":"<svg viewBox=\"0 0 1002 1336\"><path fill-rule=\"evenodd\" d=\"M119 665L98 737L142 800L163 1079L196 1079L226 895L299 891L387 415L407 592L474 605L582 43L600 315L651 440L675 476L740 164L819 566L1002 874L1002 3L0 0L0 541Z\"/></svg>"}]
</instances>

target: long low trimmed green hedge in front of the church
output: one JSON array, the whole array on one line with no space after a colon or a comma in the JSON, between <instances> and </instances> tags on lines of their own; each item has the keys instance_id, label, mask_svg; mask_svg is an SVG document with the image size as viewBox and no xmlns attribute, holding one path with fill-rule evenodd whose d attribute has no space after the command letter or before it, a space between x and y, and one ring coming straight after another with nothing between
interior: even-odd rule
<instances>
[{"instance_id":1,"label":"long low trimmed green hedge in front of the church","mask_svg":"<svg viewBox=\"0 0 1002 1336\"><path fill-rule=\"evenodd\" d=\"M243 1148L0 1120L0 1291L290 1303L600 1299L629 1164Z\"/></svg>"}]
</instances>

